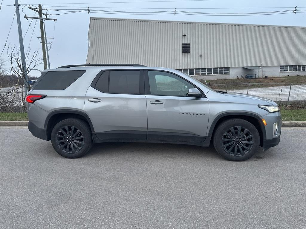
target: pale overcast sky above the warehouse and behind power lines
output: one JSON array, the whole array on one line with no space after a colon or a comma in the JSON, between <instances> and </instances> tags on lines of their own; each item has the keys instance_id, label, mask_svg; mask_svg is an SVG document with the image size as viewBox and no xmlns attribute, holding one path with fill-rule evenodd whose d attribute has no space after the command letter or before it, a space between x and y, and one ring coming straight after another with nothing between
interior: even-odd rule
<instances>
[{"instance_id":1,"label":"pale overcast sky above the warehouse and behind power lines","mask_svg":"<svg viewBox=\"0 0 306 229\"><path fill-rule=\"evenodd\" d=\"M10 45L16 45L19 47L18 29L15 13L14 0L0 0L2 1L2 9L0 10L0 53L6 42L6 47L0 59L7 60L7 47ZM35 25L35 19L24 18L24 14L27 16L34 16L34 11L28 9L26 5L31 4L32 7L38 7L38 4L43 5L43 9L76 9L87 8L99 9L99 10L111 10L111 11L167 11L174 8L194 8L194 9L181 9L184 11L193 12L210 12L210 13L246 13L246 12L267 12L267 11L280 11L280 10L293 10L297 6L297 10L306 10L305 0L203 0L203 1L161 1L155 0L155 2L148 2L154 0L90 0L86 4L85 0L67 0L67 1L51 1L51 0L19 0L20 16L22 33L24 36L24 49L27 52L31 49L31 52L38 50L39 55L42 55L42 47L40 43L40 28L39 20ZM103 3L101 3L103 2ZM106 3L112 2L112 3ZM117 3L114 3L117 2ZM121 2L121 3L118 3ZM69 4L59 4L69 3ZM45 6L44 6L45 5ZM53 7L51 7L53 6ZM71 7L74 6L74 9ZM105 7L94 8L94 7ZM107 7L107 8L106 8ZM260 9L228 9L228 8L259 8ZM271 8L270 8L271 7ZM286 7L286 8L275 8ZM302 8L304 7L304 8ZM127 8L171 8L171 9L127 9ZM203 9L201 9L203 8ZM219 9L209 9L219 8ZM227 8L227 9L220 9ZM79 10L78 10L79 11ZM46 10L43 10L46 13ZM299 12L299 11L297 11ZM301 12L301 11L300 11ZM306 11L304 11L306 12ZM252 15L252 16L204 16L204 15L179 15L179 14L162 14L162 15L122 15L122 14L105 14L105 13L69 13L59 11L47 11L47 14L68 13L62 15L48 16L50 18L56 18L57 21L45 20L47 37L53 37L54 39L48 39L50 45L49 58L50 67L56 68L62 65L68 64L85 64L87 51L88 51L88 27L89 18L92 17L107 17L107 18L132 18L132 19L147 19L147 20L173 20L173 21L196 21L196 22L217 22L217 23L239 23L239 24L265 24L265 25L284 25L284 26L303 26L306 27L306 13L288 13L288 14L275 14L275 15ZM35 15L37 17L37 13ZM13 20L13 24L12 24ZM32 23L31 23L32 20ZM29 23L31 27L29 27ZM9 33L10 26L11 31ZM35 26L35 27L34 27ZM33 30L34 33L33 33ZM27 31L28 30L28 31ZM26 32L27 31L27 32ZM32 36L32 39L31 39ZM9 69L9 64L6 66ZM43 70L43 65L38 66L40 70ZM32 71L30 75L40 76L39 71Z\"/></svg>"}]
</instances>

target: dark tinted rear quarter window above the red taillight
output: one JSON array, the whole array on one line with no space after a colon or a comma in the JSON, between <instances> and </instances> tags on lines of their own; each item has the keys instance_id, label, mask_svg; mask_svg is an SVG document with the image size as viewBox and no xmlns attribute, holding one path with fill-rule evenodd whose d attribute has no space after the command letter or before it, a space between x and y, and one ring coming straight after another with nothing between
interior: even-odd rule
<instances>
[{"instance_id":1,"label":"dark tinted rear quarter window above the red taillight","mask_svg":"<svg viewBox=\"0 0 306 229\"><path fill-rule=\"evenodd\" d=\"M48 71L34 85L33 90L64 90L86 71Z\"/></svg>"}]
</instances>

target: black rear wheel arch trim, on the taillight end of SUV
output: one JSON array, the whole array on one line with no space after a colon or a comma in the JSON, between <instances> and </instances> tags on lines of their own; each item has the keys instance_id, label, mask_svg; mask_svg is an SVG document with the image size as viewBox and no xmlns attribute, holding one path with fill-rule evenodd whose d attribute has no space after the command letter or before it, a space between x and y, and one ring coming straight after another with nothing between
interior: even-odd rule
<instances>
[{"instance_id":1,"label":"black rear wheel arch trim, on the taillight end of SUV","mask_svg":"<svg viewBox=\"0 0 306 229\"><path fill-rule=\"evenodd\" d=\"M57 110L57 111L52 111L49 113L49 115L46 118L45 124L44 124L44 129L46 129L47 133L47 140L51 140L51 132L53 127L60 121L66 119L66 118L79 118L84 120L85 122L88 123L91 132L94 131L94 127L92 125L92 122L88 115L86 115L82 111L76 111L76 110Z\"/></svg>"}]
</instances>

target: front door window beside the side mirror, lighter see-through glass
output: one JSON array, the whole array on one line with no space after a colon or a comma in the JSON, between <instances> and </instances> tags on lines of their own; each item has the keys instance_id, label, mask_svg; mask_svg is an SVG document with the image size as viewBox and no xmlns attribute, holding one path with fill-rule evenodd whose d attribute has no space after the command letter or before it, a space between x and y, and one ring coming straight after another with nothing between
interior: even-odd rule
<instances>
[{"instance_id":1,"label":"front door window beside the side mirror, lighter see-through glass","mask_svg":"<svg viewBox=\"0 0 306 229\"><path fill-rule=\"evenodd\" d=\"M194 86L181 77L162 71L148 71L151 95L187 96Z\"/></svg>"}]
</instances>

